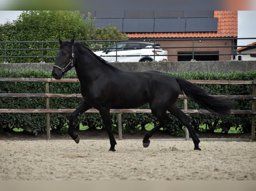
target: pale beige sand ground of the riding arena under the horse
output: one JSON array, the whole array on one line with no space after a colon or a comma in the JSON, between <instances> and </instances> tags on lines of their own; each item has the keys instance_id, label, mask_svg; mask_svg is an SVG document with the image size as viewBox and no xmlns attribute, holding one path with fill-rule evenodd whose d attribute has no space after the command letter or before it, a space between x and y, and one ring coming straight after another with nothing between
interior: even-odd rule
<instances>
[{"instance_id":1,"label":"pale beige sand ground of the riding arena under the horse","mask_svg":"<svg viewBox=\"0 0 256 191\"><path fill-rule=\"evenodd\" d=\"M256 180L256 142L0 140L0 180Z\"/></svg>"}]
</instances>

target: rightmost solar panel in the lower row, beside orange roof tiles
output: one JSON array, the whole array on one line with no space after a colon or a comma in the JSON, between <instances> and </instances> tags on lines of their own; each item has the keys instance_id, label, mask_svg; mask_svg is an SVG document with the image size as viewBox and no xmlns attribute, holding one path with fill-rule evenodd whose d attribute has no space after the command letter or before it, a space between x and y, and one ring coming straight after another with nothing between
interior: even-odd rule
<instances>
[{"instance_id":1,"label":"rightmost solar panel in the lower row, beside orange roof tiles","mask_svg":"<svg viewBox=\"0 0 256 191\"><path fill-rule=\"evenodd\" d=\"M216 32L218 18L186 18L186 32Z\"/></svg>"}]
</instances>

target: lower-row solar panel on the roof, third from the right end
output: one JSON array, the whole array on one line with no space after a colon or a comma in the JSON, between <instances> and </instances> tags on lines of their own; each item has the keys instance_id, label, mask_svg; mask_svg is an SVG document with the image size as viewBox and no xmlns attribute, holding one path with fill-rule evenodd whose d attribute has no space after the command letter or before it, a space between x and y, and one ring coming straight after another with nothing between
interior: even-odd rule
<instances>
[{"instance_id":1,"label":"lower-row solar panel on the roof, third from the right end","mask_svg":"<svg viewBox=\"0 0 256 191\"><path fill-rule=\"evenodd\" d=\"M123 31L125 33L133 32L154 32L154 19L124 19Z\"/></svg>"}]
</instances>

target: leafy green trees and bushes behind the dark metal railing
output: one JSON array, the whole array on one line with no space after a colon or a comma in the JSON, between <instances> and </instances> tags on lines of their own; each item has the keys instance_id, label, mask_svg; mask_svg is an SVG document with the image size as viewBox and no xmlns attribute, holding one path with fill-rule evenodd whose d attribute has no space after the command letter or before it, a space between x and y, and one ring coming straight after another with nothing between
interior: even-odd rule
<instances>
[{"instance_id":1,"label":"leafy green trees and bushes behind the dark metal railing","mask_svg":"<svg viewBox=\"0 0 256 191\"><path fill-rule=\"evenodd\" d=\"M95 19L87 17L80 11L23 11L17 20L0 25L0 41L57 41L75 37L78 41L91 40L123 40L127 39L125 34L118 31L112 25L103 29L95 28ZM112 43L113 44L113 43ZM91 47L109 46L108 43L86 43ZM22 58L11 58L10 63L38 63L41 58L41 47L43 50L43 61L54 62L59 44L56 43L6 43L0 44L4 49L24 49L22 51L7 51L7 56ZM3 51L0 52L2 54ZM28 56L31 56L28 58ZM34 58L32 58L34 57ZM2 62L3 59L0 59Z\"/></svg>"}]
</instances>

